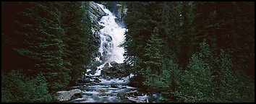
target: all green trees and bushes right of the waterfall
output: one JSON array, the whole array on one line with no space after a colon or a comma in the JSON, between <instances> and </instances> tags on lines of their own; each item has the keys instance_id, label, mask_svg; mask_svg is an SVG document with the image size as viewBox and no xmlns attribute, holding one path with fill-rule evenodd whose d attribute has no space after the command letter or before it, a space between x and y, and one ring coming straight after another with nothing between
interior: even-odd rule
<instances>
[{"instance_id":1,"label":"all green trees and bushes right of the waterfall","mask_svg":"<svg viewBox=\"0 0 256 104\"><path fill-rule=\"evenodd\" d=\"M125 62L158 101L255 102L253 2L126 4Z\"/></svg>"}]
</instances>

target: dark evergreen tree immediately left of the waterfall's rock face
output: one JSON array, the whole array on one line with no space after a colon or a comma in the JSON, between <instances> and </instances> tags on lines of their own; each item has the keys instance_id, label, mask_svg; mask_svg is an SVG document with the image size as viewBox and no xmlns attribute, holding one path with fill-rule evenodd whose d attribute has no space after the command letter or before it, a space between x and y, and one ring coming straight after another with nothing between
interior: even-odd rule
<instances>
[{"instance_id":1,"label":"dark evergreen tree immediately left of the waterfall's rock face","mask_svg":"<svg viewBox=\"0 0 256 104\"><path fill-rule=\"evenodd\" d=\"M96 51L88 17L88 2L63 2L61 24L65 30L65 56L72 80L81 77Z\"/></svg>"}]
</instances>

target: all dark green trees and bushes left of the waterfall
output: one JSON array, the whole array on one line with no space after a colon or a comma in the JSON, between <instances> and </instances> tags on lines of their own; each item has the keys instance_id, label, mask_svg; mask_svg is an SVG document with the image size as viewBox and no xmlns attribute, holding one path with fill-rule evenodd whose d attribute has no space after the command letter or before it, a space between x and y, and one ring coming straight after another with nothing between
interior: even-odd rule
<instances>
[{"instance_id":1,"label":"all dark green trees and bushes left of the waterfall","mask_svg":"<svg viewBox=\"0 0 256 104\"><path fill-rule=\"evenodd\" d=\"M4 2L2 102L53 101L81 77L97 51L88 4Z\"/></svg>"}]
</instances>

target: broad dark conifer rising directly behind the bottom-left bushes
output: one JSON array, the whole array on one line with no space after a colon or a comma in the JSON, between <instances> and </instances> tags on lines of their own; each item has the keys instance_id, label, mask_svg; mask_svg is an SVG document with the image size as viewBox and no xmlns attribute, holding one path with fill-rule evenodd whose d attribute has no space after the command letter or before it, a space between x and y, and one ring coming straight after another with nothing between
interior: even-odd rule
<instances>
[{"instance_id":1,"label":"broad dark conifer rising directly behind the bottom-left bushes","mask_svg":"<svg viewBox=\"0 0 256 104\"><path fill-rule=\"evenodd\" d=\"M22 35L24 40L20 42L22 47L15 50L34 60L35 69L30 70L35 74L43 72L50 90L66 87L70 77L62 59L64 30L59 25L59 11L54 7L56 2L29 4L27 11L22 12L26 20L17 21L21 26L17 35Z\"/></svg>"}]
</instances>

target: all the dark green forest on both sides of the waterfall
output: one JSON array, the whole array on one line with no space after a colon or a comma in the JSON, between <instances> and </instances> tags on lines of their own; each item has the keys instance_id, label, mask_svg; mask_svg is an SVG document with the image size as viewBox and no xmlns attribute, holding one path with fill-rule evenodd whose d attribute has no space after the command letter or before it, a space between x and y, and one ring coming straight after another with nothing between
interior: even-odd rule
<instances>
[{"instance_id":1,"label":"all the dark green forest on both sides of the waterfall","mask_svg":"<svg viewBox=\"0 0 256 104\"><path fill-rule=\"evenodd\" d=\"M158 102L255 102L254 2L100 3L127 7L124 62ZM97 51L88 2L2 6L1 102L56 102Z\"/></svg>"}]
</instances>

